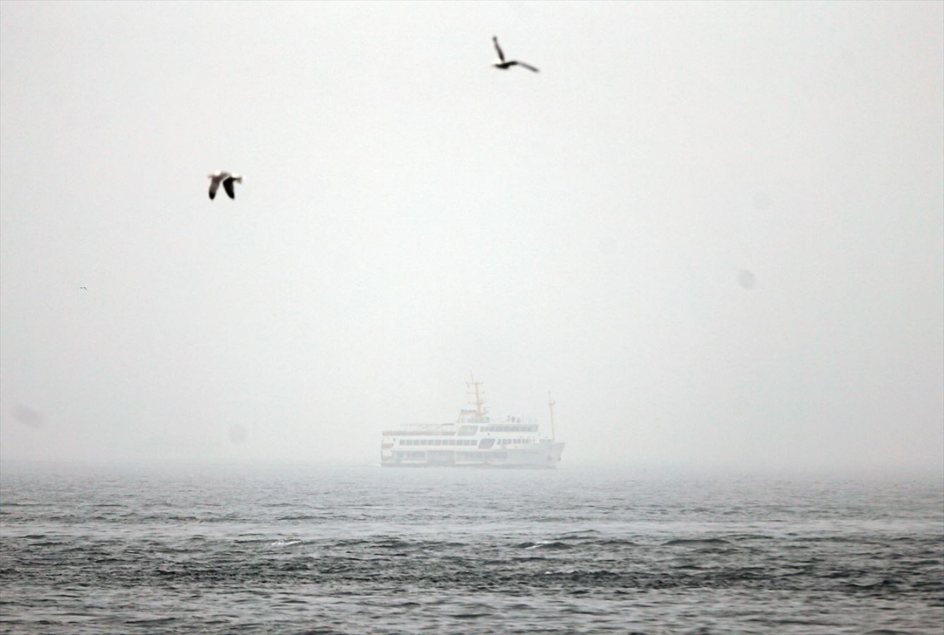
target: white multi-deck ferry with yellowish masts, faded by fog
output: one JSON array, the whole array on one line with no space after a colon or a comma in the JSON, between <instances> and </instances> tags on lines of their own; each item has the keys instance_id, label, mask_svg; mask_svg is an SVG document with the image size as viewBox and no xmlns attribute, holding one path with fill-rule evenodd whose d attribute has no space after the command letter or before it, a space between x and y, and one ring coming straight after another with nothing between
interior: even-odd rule
<instances>
[{"instance_id":1,"label":"white multi-deck ferry with yellowish masts, faded by fog","mask_svg":"<svg viewBox=\"0 0 944 635\"><path fill-rule=\"evenodd\" d=\"M548 393L550 437L542 437L534 422L520 417L496 422L485 409L481 382L465 382L475 409L459 410L454 424L415 424L384 430L380 464L385 467L527 467L554 468L564 443L554 439L554 402Z\"/></svg>"}]
</instances>

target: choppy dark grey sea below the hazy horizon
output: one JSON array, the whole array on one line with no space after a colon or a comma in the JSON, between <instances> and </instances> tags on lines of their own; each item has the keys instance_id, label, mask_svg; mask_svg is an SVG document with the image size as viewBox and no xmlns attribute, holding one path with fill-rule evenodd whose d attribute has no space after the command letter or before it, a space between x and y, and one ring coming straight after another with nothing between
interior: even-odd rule
<instances>
[{"instance_id":1,"label":"choppy dark grey sea below the hazy horizon","mask_svg":"<svg viewBox=\"0 0 944 635\"><path fill-rule=\"evenodd\" d=\"M935 633L940 476L0 466L4 633Z\"/></svg>"}]
</instances>

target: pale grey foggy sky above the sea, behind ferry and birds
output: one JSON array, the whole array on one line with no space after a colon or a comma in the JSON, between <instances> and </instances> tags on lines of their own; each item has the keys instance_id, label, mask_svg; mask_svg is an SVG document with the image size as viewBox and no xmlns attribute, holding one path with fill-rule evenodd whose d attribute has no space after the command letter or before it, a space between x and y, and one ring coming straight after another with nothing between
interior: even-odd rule
<instances>
[{"instance_id":1,"label":"pale grey foggy sky above the sea, behind ferry and birds","mask_svg":"<svg viewBox=\"0 0 944 635\"><path fill-rule=\"evenodd\" d=\"M942 7L4 2L0 459L940 469Z\"/></svg>"}]
</instances>

